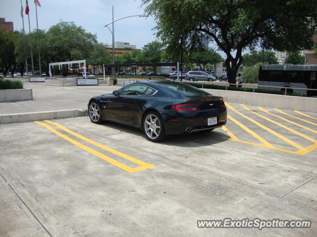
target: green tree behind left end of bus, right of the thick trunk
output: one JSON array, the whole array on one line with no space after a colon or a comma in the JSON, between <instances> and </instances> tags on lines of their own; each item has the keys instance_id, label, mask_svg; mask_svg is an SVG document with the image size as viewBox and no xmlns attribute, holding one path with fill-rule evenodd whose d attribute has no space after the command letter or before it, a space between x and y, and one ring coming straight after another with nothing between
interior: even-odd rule
<instances>
[{"instance_id":1,"label":"green tree behind left end of bus, right of the thick trunk","mask_svg":"<svg viewBox=\"0 0 317 237\"><path fill-rule=\"evenodd\" d=\"M252 50L250 53L246 53L242 56L242 65L253 66L255 64L263 62L264 64L277 64L277 58L274 52L271 51L257 51Z\"/></svg>"}]
</instances>

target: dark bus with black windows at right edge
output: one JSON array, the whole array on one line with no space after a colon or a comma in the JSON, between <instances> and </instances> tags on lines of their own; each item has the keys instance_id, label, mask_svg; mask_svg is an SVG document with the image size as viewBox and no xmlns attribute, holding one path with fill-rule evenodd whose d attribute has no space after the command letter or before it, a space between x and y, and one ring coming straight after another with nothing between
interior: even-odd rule
<instances>
[{"instance_id":1,"label":"dark bus with black windows at right edge","mask_svg":"<svg viewBox=\"0 0 317 237\"><path fill-rule=\"evenodd\" d=\"M258 85L262 85L259 89L280 90L294 92L297 94L317 96L317 65L262 65L259 71ZM284 88L265 87L279 86ZM303 88L303 89L295 89Z\"/></svg>"}]
</instances>

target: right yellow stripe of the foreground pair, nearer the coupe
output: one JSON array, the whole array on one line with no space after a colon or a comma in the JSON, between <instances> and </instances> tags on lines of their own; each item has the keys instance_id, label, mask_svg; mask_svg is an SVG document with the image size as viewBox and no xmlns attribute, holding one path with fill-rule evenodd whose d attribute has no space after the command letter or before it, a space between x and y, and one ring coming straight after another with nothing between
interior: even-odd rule
<instances>
[{"instance_id":1,"label":"right yellow stripe of the foreground pair, nearer the coupe","mask_svg":"<svg viewBox=\"0 0 317 237\"><path fill-rule=\"evenodd\" d=\"M53 125L55 125L55 126L57 126L57 127L59 127L59 128L62 129L63 131L68 132L69 134L71 134L71 135L73 135L73 136L75 136L75 137L78 137L79 139L82 139L82 140L84 140L84 141L86 141L86 142L88 142L88 143L90 143L90 144L92 144L92 145L94 145L94 146L96 146L96 147L99 147L99 148L101 148L101 149L104 149L104 150L106 150L106 151L108 151L108 152L110 152L110 153L112 153L112 154L114 154L114 155L117 155L117 156L119 156L119 157L125 158L125 159L130 160L130 161L132 161L132 162L134 162L134 163L137 163L137 164L139 164L139 165L146 166L146 167L149 168L149 169L156 167L156 166L154 166L154 165L152 165L152 164L149 164L149 163L144 162L144 161L142 161L142 160L139 160L139 159L130 157L130 156L128 156L128 155L126 155L126 154L123 154L123 153L121 153L121 152L118 152L118 151L116 151L116 150L114 150L114 149L112 149L112 148L110 148L110 147L107 147L107 146L105 146L105 145L103 145L103 144L100 144L100 143L98 143L98 142L95 142L95 141L93 141L93 140L91 140L91 139L89 139L89 138L87 138L87 137L84 137L84 136L82 136L82 135L80 135L80 134L78 134L78 133L76 133L76 132L74 132L74 131L72 131L72 130L70 130L70 129L68 129L68 128L62 126L62 125L60 125L60 124L57 123L57 122L53 122L53 121L49 121L49 120L45 120L45 121L48 122L48 123L51 123L51 124L53 124Z\"/></svg>"}]
</instances>

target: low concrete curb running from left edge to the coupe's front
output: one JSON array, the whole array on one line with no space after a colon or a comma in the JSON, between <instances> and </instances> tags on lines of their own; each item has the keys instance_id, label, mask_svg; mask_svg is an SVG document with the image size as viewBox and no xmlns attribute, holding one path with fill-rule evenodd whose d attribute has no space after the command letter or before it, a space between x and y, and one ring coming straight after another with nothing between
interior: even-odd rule
<instances>
[{"instance_id":1,"label":"low concrete curb running from left edge to the coupe's front","mask_svg":"<svg viewBox=\"0 0 317 237\"><path fill-rule=\"evenodd\" d=\"M88 109L56 110L0 115L0 124L81 116L88 116Z\"/></svg>"}]
</instances>

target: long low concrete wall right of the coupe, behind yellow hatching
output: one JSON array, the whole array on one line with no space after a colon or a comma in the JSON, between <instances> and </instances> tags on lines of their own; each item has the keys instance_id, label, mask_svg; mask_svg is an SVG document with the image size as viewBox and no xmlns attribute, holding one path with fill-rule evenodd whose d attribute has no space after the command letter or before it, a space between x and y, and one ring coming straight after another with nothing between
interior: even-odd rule
<instances>
[{"instance_id":1,"label":"long low concrete wall right of the coupe, behind yellow hatching","mask_svg":"<svg viewBox=\"0 0 317 237\"><path fill-rule=\"evenodd\" d=\"M317 98L232 90L204 90L213 95L222 96L224 101L229 103L317 113Z\"/></svg>"}]
</instances>

